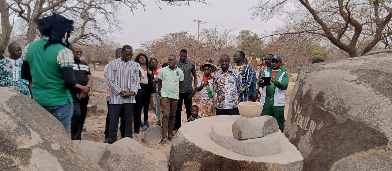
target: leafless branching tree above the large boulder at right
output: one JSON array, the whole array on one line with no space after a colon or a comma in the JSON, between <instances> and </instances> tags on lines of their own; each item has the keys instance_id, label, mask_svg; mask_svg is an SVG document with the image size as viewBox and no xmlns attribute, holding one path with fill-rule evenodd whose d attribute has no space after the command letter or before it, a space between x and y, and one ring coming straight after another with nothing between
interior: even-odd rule
<instances>
[{"instance_id":1,"label":"leafless branching tree above the large boulder at right","mask_svg":"<svg viewBox=\"0 0 392 171\"><path fill-rule=\"evenodd\" d=\"M357 57L388 40L391 7L390 0L260 0L250 10L263 21L274 15L287 18L286 27L261 38L311 35Z\"/></svg>"}]
</instances>

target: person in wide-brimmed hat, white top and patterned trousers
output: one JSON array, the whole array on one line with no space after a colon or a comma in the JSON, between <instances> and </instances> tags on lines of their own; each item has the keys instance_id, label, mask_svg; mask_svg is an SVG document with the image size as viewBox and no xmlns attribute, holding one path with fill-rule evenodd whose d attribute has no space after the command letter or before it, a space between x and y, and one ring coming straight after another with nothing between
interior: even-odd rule
<instances>
[{"instance_id":1,"label":"person in wide-brimmed hat, white top and patterned trousers","mask_svg":"<svg viewBox=\"0 0 392 171\"><path fill-rule=\"evenodd\" d=\"M214 89L214 76L211 73L216 71L214 64L203 64L200 66L200 70L203 71L204 76L200 78L197 91L201 91L200 96L200 112L201 117L216 116L214 105L215 105L215 89Z\"/></svg>"}]
</instances>

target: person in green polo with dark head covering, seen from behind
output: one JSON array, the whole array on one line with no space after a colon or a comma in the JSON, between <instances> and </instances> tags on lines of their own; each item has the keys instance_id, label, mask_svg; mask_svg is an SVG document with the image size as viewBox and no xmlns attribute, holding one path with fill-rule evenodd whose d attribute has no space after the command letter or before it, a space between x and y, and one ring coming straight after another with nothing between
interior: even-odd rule
<instances>
[{"instance_id":1,"label":"person in green polo with dark head covering, seen from behind","mask_svg":"<svg viewBox=\"0 0 392 171\"><path fill-rule=\"evenodd\" d=\"M73 52L67 48L73 21L54 13L38 19L37 23L44 38L24 48L22 78L29 80L33 99L57 118L68 132L73 115L69 89L78 88L86 94L90 91L89 87L76 84L74 78Z\"/></svg>"}]
</instances>

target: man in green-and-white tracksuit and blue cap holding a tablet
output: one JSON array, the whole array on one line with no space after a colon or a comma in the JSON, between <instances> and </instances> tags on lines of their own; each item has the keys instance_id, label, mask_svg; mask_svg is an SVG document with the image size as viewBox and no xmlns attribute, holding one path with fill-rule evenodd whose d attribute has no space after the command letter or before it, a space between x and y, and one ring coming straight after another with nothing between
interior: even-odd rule
<instances>
[{"instance_id":1,"label":"man in green-and-white tracksuit and blue cap holding a tablet","mask_svg":"<svg viewBox=\"0 0 392 171\"><path fill-rule=\"evenodd\" d=\"M271 68L267 68L261 77L272 77L271 86L264 86L261 83L263 79L259 79L258 85L263 87L261 93L260 103L263 103L263 112L261 116L273 116L278 121L279 129L283 132L285 128L285 93L289 86L289 73L283 68L280 68L282 59L279 55L272 57Z\"/></svg>"}]
</instances>

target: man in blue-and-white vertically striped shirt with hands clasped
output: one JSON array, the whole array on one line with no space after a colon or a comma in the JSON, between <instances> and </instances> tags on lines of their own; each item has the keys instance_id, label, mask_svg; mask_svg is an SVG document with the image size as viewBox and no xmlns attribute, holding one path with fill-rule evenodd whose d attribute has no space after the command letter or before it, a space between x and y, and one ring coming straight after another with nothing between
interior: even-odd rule
<instances>
[{"instance_id":1,"label":"man in blue-and-white vertically striped shirt with hands clasped","mask_svg":"<svg viewBox=\"0 0 392 171\"><path fill-rule=\"evenodd\" d=\"M131 61L132 47L125 45L122 56L108 64L107 84L110 92L108 143L113 144L117 139L118 120L123 116L124 124L122 138L132 138L132 115L135 95L140 86L139 68Z\"/></svg>"}]
</instances>

